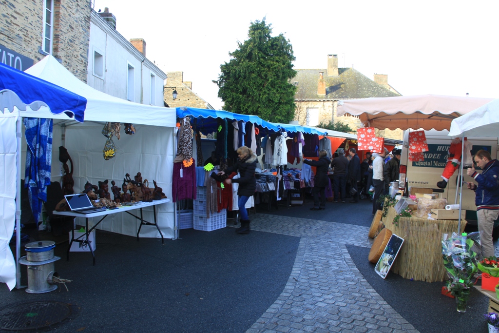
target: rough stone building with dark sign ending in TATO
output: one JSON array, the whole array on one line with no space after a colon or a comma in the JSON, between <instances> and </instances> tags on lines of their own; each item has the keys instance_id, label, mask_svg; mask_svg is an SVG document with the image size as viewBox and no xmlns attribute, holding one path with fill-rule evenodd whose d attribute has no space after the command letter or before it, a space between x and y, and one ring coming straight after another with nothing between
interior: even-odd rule
<instances>
[{"instance_id":1,"label":"rough stone building with dark sign ending in TATO","mask_svg":"<svg viewBox=\"0 0 499 333\"><path fill-rule=\"evenodd\" d=\"M52 54L87 80L90 1L9 0L0 3L0 60L25 70Z\"/></svg>"}]
</instances>

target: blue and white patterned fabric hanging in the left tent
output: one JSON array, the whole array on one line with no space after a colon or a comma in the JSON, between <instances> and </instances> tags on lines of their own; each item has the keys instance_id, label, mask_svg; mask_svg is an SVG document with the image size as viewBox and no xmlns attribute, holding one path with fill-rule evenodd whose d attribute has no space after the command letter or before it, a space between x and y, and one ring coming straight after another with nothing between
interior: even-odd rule
<instances>
[{"instance_id":1,"label":"blue and white patterned fabric hanging in the left tent","mask_svg":"<svg viewBox=\"0 0 499 333\"><path fill-rule=\"evenodd\" d=\"M52 119L23 118L26 127L26 172L24 187L28 189L29 205L37 222L41 204L47 201L52 164Z\"/></svg>"}]
</instances>

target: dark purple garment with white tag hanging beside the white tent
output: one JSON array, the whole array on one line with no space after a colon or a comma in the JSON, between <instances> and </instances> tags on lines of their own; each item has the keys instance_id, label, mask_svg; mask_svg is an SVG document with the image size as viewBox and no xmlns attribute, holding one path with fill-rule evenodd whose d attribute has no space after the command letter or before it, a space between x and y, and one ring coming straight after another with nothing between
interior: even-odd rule
<instances>
[{"instance_id":1,"label":"dark purple garment with white tag hanging beside the white tent","mask_svg":"<svg viewBox=\"0 0 499 333\"><path fill-rule=\"evenodd\" d=\"M184 162L173 163L173 202L182 199L196 199L196 165L185 167Z\"/></svg>"}]
</instances>

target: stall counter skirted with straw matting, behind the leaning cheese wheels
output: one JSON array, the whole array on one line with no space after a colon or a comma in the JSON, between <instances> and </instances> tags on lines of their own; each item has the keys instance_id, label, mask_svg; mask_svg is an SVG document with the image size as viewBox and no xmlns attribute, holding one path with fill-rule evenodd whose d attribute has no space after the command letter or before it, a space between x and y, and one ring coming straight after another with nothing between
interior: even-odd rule
<instances>
[{"instance_id":1,"label":"stall counter skirted with straw matting, behind the leaning cheese wheels","mask_svg":"<svg viewBox=\"0 0 499 333\"><path fill-rule=\"evenodd\" d=\"M392 233L402 237L404 245L393 263L392 272L405 279L437 282L447 280L442 259L442 236L458 232L458 220L428 220L417 217L401 217L397 225L393 207L381 221ZM461 220L464 232L466 220Z\"/></svg>"}]
</instances>

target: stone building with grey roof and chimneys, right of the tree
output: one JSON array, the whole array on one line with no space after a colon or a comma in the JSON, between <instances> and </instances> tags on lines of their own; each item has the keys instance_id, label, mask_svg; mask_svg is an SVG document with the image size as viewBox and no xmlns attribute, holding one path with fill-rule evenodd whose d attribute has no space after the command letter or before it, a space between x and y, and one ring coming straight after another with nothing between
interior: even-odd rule
<instances>
[{"instance_id":1,"label":"stone building with grey roof and chimneys, right of the tree","mask_svg":"<svg viewBox=\"0 0 499 333\"><path fill-rule=\"evenodd\" d=\"M321 122L341 121L356 130L361 126L358 117L336 116L339 100L401 96L388 84L388 75L375 74L373 81L353 67L339 68L336 54L327 56L327 68L296 69L296 72L290 82L296 86L294 120L300 125L317 126ZM386 130L380 134L402 139L401 130Z\"/></svg>"}]
</instances>

